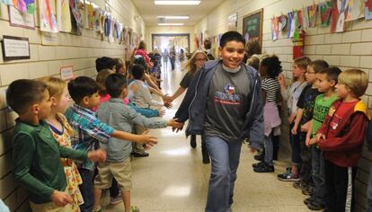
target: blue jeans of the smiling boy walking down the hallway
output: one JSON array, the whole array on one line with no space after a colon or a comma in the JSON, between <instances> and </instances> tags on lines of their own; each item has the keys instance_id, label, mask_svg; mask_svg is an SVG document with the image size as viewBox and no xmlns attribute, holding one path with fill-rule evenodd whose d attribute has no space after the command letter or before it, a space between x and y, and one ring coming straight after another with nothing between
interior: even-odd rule
<instances>
[{"instance_id":1,"label":"blue jeans of the smiling boy walking down the hallway","mask_svg":"<svg viewBox=\"0 0 372 212\"><path fill-rule=\"evenodd\" d=\"M204 140L212 160L206 212L226 212L233 204L242 142L208 136L205 136Z\"/></svg>"}]
</instances>

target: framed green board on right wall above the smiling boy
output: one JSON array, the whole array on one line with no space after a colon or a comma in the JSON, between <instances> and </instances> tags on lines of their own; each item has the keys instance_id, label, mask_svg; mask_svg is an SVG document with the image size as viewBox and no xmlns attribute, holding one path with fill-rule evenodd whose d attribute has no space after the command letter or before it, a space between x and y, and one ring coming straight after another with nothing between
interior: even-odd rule
<instances>
[{"instance_id":1,"label":"framed green board on right wall above the smiling boy","mask_svg":"<svg viewBox=\"0 0 372 212\"><path fill-rule=\"evenodd\" d=\"M245 41L259 40L262 46L263 8L243 17L243 36Z\"/></svg>"}]
</instances>

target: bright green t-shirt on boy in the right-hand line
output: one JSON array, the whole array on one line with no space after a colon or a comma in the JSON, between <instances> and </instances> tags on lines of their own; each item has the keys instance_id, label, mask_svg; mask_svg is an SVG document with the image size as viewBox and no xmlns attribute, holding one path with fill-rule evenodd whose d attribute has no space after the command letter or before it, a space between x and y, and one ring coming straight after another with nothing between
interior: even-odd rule
<instances>
[{"instance_id":1,"label":"bright green t-shirt on boy in the right-hand line","mask_svg":"<svg viewBox=\"0 0 372 212\"><path fill-rule=\"evenodd\" d=\"M331 105L338 99L336 94L333 94L327 100L324 100L324 94L320 94L315 99L314 114L313 114L313 137L316 135L316 130L320 128L324 122L325 116L328 114Z\"/></svg>"}]
</instances>

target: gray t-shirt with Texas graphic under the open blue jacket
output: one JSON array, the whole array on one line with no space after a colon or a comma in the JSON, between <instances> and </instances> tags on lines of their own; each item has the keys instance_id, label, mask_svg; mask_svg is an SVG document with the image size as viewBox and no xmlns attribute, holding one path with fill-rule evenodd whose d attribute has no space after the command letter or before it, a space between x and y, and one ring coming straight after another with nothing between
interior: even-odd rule
<instances>
[{"instance_id":1,"label":"gray t-shirt with Texas graphic under the open blue jacket","mask_svg":"<svg viewBox=\"0 0 372 212\"><path fill-rule=\"evenodd\" d=\"M250 80L244 68L229 73L218 65L209 84L204 133L239 141L248 111Z\"/></svg>"}]
</instances>

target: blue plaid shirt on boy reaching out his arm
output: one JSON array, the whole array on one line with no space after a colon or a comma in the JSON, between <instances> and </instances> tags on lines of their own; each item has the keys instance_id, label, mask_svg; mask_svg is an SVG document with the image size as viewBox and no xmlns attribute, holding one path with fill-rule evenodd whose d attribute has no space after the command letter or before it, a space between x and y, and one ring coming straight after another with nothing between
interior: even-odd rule
<instances>
[{"instance_id":1,"label":"blue plaid shirt on boy reaching out his arm","mask_svg":"<svg viewBox=\"0 0 372 212\"><path fill-rule=\"evenodd\" d=\"M68 108L65 115L71 127L74 128L74 134L71 136L71 145L74 149L92 151L97 142L107 143L115 130L97 119L93 110L77 104ZM93 163L90 161L77 162L77 166L93 170Z\"/></svg>"}]
</instances>

